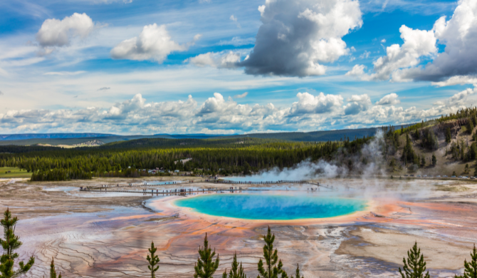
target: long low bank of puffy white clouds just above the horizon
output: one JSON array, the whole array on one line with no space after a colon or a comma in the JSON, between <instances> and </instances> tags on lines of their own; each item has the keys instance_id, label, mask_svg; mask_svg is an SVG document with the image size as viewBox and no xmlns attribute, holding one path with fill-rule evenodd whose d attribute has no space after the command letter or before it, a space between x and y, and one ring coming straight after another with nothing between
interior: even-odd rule
<instances>
[{"instance_id":1,"label":"long low bank of puffy white clouds just above the horizon","mask_svg":"<svg viewBox=\"0 0 477 278\"><path fill-rule=\"evenodd\" d=\"M340 95L303 92L297 93L289 107L273 103L239 104L221 93L214 93L203 103L192 96L148 103L138 93L106 108L9 110L0 113L0 132L243 133L399 125L455 113L469 101L475 101L476 93L477 87L468 88L427 110L395 106L399 100L394 93L373 105L367 94L345 99Z\"/></svg>"}]
</instances>

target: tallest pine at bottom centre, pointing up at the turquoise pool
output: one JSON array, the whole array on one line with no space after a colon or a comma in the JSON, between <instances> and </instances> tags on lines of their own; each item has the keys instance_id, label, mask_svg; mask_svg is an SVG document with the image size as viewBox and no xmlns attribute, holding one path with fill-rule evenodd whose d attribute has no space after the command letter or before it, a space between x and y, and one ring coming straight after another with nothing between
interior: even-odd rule
<instances>
[{"instance_id":1,"label":"tallest pine at bottom centre, pointing up at the turquoise pool","mask_svg":"<svg viewBox=\"0 0 477 278\"><path fill-rule=\"evenodd\" d=\"M263 267L263 261L258 261L257 278L278 278L281 274L282 278L288 277L286 272L282 269L283 263L281 259L278 260L278 250L273 251L273 242L275 241L275 234L271 234L270 227L268 227L267 235L263 236L265 245L263 246L263 257L265 258L266 268ZM278 265L277 265L278 262Z\"/></svg>"}]
</instances>

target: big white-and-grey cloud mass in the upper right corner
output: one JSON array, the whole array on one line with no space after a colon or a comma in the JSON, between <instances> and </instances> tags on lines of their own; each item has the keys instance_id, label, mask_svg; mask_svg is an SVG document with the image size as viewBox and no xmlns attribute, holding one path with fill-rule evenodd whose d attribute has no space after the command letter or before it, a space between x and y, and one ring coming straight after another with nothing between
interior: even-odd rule
<instances>
[{"instance_id":1,"label":"big white-and-grey cloud mass in the upper right corner","mask_svg":"<svg viewBox=\"0 0 477 278\"><path fill-rule=\"evenodd\" d=\"M433 29L413 30L402 26L402 46L386 48L387 55L374 61L364 80L432 81L436 86L475 83L477 78L477 1L460 0L453 16L438 19ZM445 46L438 53L437 44ZM431 58L421 64L422 57Z\"/></svg>"}]
</instances>

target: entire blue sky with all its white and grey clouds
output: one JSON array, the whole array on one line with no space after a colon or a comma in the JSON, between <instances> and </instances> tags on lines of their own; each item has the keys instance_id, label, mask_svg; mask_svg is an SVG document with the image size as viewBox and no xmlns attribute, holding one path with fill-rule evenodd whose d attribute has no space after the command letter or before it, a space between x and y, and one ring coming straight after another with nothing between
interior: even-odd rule
<instances>
[{"instance_id":1,"label":"entire blue sky with all its white and grey clouds","mask_svg":"<svg viewBox=\"0 0 477 278\"><path fill-rule=\"evenodd\" d=\"M402 124L477 103L477 0L6 0L0 133Z\"/></svg>"}]
</instances>

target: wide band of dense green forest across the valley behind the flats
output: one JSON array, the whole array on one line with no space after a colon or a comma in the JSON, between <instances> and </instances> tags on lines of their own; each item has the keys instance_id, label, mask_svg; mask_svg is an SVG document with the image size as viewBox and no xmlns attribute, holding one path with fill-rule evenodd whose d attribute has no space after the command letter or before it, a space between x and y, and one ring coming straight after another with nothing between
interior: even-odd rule
<instances>
[{"instance_id":1,"label":"wide band of dense green forest across the valley behind the flats","mask_svg":"<svg viewBox=\"0 0 477 278\"><path fill-rule=\"evenodd\" d=\"M99 176L137 177L141 169L191 171L205 174L250 173L273 167L292 167L305 159L330 160L340 148L357 153L369 137L326 142L290 143L256 138L140 139L97 148L0 147L0 166L33 172L32 180L85 179ZM174 161L192 158L184 165ZM219 170L220 169L220 170Z\"/></svg>"}]
</instances>

